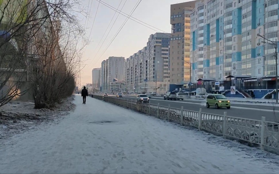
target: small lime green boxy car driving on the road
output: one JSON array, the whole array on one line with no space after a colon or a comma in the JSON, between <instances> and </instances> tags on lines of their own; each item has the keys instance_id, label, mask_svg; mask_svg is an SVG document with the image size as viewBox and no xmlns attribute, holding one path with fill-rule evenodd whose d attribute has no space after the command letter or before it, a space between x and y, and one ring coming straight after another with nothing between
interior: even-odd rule
<instances>
[{"instance_id":1,"label":"small lime green boxy car driving on the road","mask_svg":"<svg viewBox=\"0 0 279 174\"><path fill-rule=\"evenodd\" d=\"M222 94L210 94L206 99L206 107L215 106L216 109L226 107L230 109L230 101Z\"/></svg>"}]
</instances>

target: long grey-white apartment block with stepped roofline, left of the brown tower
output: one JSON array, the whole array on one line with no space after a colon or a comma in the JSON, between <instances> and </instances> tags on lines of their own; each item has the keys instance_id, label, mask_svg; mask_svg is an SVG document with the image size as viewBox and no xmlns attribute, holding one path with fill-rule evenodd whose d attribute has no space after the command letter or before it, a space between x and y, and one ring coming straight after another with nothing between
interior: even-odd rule
<instances>
[{"instance_id":1,"label":"long grey-white apartment block with stepped roofline, left of the brown tower","mask_svg":"<svg viewBox=\"0 0 279 174\"><path fill-rule=\"evenodd\" d=\"M168 91L170 33L150 35L146 46L125 61L127 93Z\"/></svg>"}]
</instances>

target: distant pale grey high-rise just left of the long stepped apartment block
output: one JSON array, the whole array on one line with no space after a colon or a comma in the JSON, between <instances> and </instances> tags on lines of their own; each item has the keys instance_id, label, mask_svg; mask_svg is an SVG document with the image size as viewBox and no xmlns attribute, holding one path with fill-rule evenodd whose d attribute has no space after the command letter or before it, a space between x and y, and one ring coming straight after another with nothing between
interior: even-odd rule
<instances>
[{"instance_id":1,"label":"distant pale grey high-rise just left of the long stepped apartment block","mask_svg":"<svg viewBox=\"0 0 279 174\"><path fill-rule=\"evenodd\" d=\"M124 57L108 57L102 61L100 69L101 91L113 92L115 81L124 81Z\"/></svg>"}]
</instances>

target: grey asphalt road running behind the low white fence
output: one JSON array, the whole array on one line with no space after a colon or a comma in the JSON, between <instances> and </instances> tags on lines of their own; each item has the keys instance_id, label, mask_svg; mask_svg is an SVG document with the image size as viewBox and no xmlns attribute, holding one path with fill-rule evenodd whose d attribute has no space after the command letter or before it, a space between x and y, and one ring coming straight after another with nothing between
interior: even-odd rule
<instances>
[{"instance_id":1,"label":"grey asphalt road running behind the low white fence","mask_svg":"<svg viewBox=\"0 0 279 174\"><path fill-rule=\"evenodd\" d=\"M115 97L115 96L110 96ZM135 101L135 97L122 97L121 99L132 100ZM151 104L157 105L160 103L161 106L170 105L173 108L181 108L185 110L199 111L201 108L204 113L210 114L219 114L223 115L224 112L227 112L227 116L240 117L240 118L248 118L261 120L262 116L266 117L267 121L279 122L279 110L278 107L273 107L272 105L256 105L256 104L243 104L243 103L232 103L232 107L230 109L220 108L215 109L215 107L206 108L205 100L179 100L179 101L168 101L161 98L151 98ZM273 109L275 108L275 112Z\"/></svg>"}]
</instances>

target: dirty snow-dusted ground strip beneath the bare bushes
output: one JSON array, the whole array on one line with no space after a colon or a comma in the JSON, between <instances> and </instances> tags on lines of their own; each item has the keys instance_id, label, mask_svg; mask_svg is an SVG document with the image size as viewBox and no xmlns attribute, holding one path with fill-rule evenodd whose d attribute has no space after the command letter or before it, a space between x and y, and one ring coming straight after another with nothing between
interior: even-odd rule
<instances>
[{"instance_id":1,"label":"dirty snow-dusted ground strip beneath the bare bushes","mask_svg":"<svg viewBox=\"0 0 279 174\"><path fill-rule=\"evenodd\" d=\"M57 121L75 108L69 97L54 110L34 109L31 101L11 101L0 108L0 140L16 133L36 128L43 121ZM1 141L0 141L1 142Z\"/></svg>"}]
</instances>

